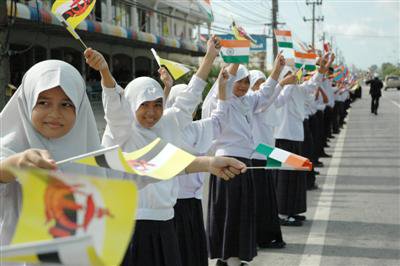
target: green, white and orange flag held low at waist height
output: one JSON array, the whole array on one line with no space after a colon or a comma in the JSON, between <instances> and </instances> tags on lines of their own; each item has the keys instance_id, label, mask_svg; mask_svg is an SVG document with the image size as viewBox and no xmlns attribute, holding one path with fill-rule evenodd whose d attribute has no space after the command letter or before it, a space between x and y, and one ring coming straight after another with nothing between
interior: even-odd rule
<instances>
[{"instance_id":1,"label":"green, white and orange flag held low at waist height","mask_svg":"<svg viewBox=\"0 0 400 266\"><path fill-rule=\"evenodd\" d=\"M312 163L310 160L300 155L276 147L270 147L265 144L259 144L256 151L265 155L267 158L266 169L298 171L312 170Z\"/></svg>"}]
</instances>

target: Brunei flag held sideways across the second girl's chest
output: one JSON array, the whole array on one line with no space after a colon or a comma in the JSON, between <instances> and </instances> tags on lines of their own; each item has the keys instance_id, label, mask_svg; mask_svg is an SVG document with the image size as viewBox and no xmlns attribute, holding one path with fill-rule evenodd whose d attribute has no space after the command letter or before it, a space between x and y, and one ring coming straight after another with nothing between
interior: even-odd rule
<instances>
[{"instance_id":1,"label":"Brunei flag held sideways across the second girl's chest","mask_svg":"<svg viewBox=\"0 0 400 266\"><path fill-rule=\"evenodd\" d=\"M195 156L190 153L157 138L144 148L130 153L122 152L119 146L114 146L57 164L74 162L167 180L181 173L194 159Z\"/></svg>"}]
</instances>

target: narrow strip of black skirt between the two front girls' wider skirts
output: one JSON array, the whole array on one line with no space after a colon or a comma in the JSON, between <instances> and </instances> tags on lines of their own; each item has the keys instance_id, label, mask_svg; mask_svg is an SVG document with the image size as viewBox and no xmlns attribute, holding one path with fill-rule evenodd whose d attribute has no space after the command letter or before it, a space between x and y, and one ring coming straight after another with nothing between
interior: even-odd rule
<instances>
[{"instance_id":1,"label":"narrow strip of black skirt between the two front girls' wider skirts","mask_svg":"<svg viewBox=\"0 0 400 266\"><path fill-rule=\"evenodd\" d=\"M182 265L207 266L207 238L201 200L178 199L174 210Z\"/></svg>"}]
</instances>

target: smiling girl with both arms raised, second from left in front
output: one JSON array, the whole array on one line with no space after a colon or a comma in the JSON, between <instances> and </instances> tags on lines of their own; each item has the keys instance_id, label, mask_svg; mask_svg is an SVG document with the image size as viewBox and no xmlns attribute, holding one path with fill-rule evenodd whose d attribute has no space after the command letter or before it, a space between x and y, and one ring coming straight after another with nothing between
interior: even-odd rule
<instances>
[{"instance_id":1,"label":"smiling girl with both arms raised, second from left in front","mask_svg":"<svg viewBox=\"0 0 400 266\"><path fill-rule=\"evenodd\" d=\"M91 49L85 51L85 56L93 62L91 66L102 75L103 106L107 121L103 144L118 144L122 150L131 152L160 137L190 152L192 147L184 143L182 130L191 123L191 115L201 100L206 84L204 80L218 55L215 46L214 40L208 42L207 54L196 75L172 107L166 110L164 93L154 79L136 78L123 90L113 80L104 58ZM204 162L213 165L212 160ZM239 164L235 161L235 165ZM243 167L240 164L238 168ZM188 167L186 171L198 172L204 169L213 170L208 167ZM220 167L219 172L232 177L234 172L231 170L231 167ZM123 265L181 265L172 220L177 189L177 179L173 178L150 184L139 191L137 223Z\"/></svg>"}]
</instances>

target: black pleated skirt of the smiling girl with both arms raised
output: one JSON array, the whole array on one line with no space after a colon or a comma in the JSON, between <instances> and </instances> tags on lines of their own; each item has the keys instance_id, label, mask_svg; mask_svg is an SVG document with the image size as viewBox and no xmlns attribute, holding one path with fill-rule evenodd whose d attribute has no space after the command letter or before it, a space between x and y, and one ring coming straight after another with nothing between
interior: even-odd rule
<instances>
[{"instance_id":1,"label":"black pleated skirt of the smiling girl with both arms raised","mask_svg":"<svg viewBox=\"0 0 400 266\"><path fill-rule=\"evenodd\" d=\"M123 266L183 266L173 219L138 220Z\"/></svg>"}]
</instances>

